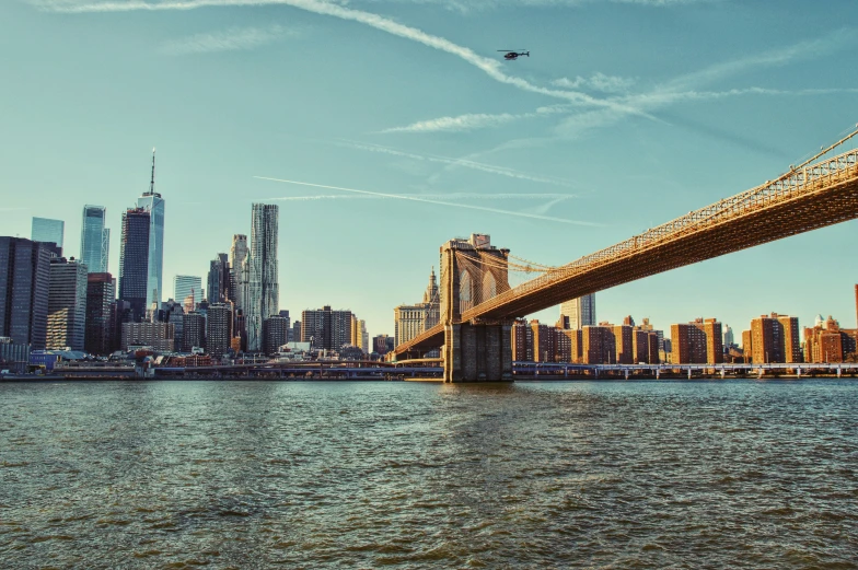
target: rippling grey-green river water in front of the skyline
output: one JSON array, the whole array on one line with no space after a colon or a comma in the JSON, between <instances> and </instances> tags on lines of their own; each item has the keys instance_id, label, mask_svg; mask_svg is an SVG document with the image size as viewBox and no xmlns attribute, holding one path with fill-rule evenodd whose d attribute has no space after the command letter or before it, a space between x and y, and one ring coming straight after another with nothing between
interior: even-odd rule
<instances>
[{"instance_id":1,"label":"rippling grey-green river water in front of the skyline","mask_svg":"<svg viewBox=\"0 0 858 570\"><path fill-rule=\"evenodd\" d=\"M0 384L0 566L856 568L858 383Z\"/></svg>"}]
</instances>

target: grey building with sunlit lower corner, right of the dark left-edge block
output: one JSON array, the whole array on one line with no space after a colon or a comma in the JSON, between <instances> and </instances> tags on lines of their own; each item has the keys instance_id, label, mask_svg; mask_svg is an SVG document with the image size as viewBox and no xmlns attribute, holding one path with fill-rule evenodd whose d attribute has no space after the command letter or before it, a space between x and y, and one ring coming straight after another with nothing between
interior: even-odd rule
<instances>
[{"instance_id":1,"label":"grey building with sunlit lower corner, right of the dark left-edge block","mask_svg":"<svg viewBox=\"0 0 858 570\"><path fill-rule=\"evenodd\" d=\"M48 286L48 350L83 350L86 333L86 266L67 260L50 259Z\"/></svg>"}]
</instances>

